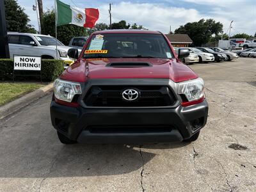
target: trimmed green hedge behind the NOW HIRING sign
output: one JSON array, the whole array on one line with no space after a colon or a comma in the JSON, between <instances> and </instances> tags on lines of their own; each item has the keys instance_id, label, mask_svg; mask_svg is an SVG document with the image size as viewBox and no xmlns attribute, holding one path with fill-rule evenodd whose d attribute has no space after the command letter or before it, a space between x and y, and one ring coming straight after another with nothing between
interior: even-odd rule
<instances>
[{"instance_id":1,"label":"trimmed green hedge behind the NOW HIRING sign","mask_svg":"<svg viewBox=\"0 0 256 192\"><path fill-rule=\"evenodd\" d=\"M63 72L63 61L61 60L42 60L42 80L54 81L61 72ZM0 59L0 79L11 80L13 73L13 60ZM38 72L37 72L38 73ZM21 73L20 73L21 74ZM22 74L31 74L31 72L22 72ZM15 77L15 79L31 79L29 76Z\"/></svg>"}]
</instances>

